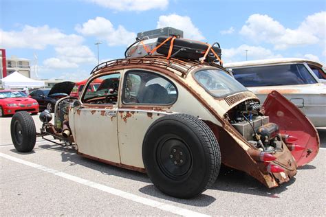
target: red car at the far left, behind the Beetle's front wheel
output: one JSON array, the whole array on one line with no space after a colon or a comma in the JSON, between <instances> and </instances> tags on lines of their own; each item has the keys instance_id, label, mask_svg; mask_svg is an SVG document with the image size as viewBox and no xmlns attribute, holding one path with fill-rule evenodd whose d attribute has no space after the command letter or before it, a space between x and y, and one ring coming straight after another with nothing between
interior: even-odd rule
<instances>
[{"instance_id":1,"label":"red car at the far left, behind the Beetle's front wheel","mask_svg":"<svg viewBox=\"0 0 326 217\"><path fill-rule=\"evenodd\" d=\"M0 90L0 117L13 115L17 111L28 111L36 115L39 113L39 104L21 91Z\"/></svg>"}]
</instances>

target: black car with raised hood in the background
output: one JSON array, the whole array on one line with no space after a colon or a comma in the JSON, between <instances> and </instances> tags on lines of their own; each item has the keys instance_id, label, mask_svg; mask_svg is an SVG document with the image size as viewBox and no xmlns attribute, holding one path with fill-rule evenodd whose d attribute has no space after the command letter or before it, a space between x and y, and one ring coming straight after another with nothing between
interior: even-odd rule
<instances>
[{"instance_id":1,"label":"black car with raised hood in the background","mask_svg":"<svg viewBox=\"0 0 326 217\"><path fill-rule=\"evenodd\" d=\"M51 113L54 112L56 101L69 95L74 85L74 82L61 82L54 84L52 89L37 89L32 91L29 96L39 102L40 111L47 109Z\"/></svg>"}]
</instances>

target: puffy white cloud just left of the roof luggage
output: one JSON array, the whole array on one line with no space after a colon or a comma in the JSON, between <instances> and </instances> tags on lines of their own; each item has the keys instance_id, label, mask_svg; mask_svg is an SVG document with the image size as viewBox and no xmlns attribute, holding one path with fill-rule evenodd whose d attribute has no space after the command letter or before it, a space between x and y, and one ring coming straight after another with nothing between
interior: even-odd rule
<instances>
[{"instance_id":1,"label":"puffy white cloud just left of the roof luggage","mask_svg":"<svg viewBox=\"0 0 326 217\"><path fill-rule=\"evenodd\" d=\"M130 45L136 37L134 32L127 31L122 25L115 29L111 21L100 16L77 25L75 29L85 36L95 36L98 40L106 41L109 46Z\"/></svg>"}]
</instances>

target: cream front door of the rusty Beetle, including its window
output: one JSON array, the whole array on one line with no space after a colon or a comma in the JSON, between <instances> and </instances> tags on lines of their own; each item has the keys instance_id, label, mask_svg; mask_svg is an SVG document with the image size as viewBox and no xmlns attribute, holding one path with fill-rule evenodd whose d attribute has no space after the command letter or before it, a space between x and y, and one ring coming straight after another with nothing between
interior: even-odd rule
<instances>
[{"instance_id":1,"label":"cream front door of the rusty Beetle, including its window","mask_svg":"<svg viewBox=\"0 0 326 217\"><path fill-rule=\"evenodd\" d=\"M117 130L120 73L107 73L95 92L87 91L87 82L74 108L74 139L78 152L107 163L120 163Z\"/></svg>"}]
</instances>

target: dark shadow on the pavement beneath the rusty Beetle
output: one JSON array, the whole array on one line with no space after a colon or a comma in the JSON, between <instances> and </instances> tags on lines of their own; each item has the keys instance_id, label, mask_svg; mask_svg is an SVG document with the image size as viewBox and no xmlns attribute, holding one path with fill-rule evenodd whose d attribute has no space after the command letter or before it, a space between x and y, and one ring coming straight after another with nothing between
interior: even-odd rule
<instances>
[{"instance_id":1,"label":"dark shadow on the pavement beneath the rusty Beetle","mask_svg":"<svg viewBox=\"0 0 326 217\"><path fill-rule=\"evenodd\" d=\"M146 174L123 169L123 168L118 168L113 165L108 165L105 163L87 159L85 157L81 157L80 155L76 154L76 150L74 149L73 146L59 146L56 144L54 145L44 144L34 148L36 152L38 150L44 150L44 149L61 152L61 158L62 158L61 160L63 162L69 161L70 162L69 166L83 165L87 168L91 168L92 170L97 170L99 172L102 172L102 174L106 174L109 176L120 176L124 179L131 179L135 181L141 181L143 183L149 183L149 185L146 185L145 187L142 187L139 190L143 194L147 194L149 196L154 196L168 201L174 201L176 203L182 203L182 204L196 206L196 207L206 207L211 203L213 203L214 201L216 201L216 198L214 198L213 196L206 195L205 192L204 194L199 194L199 196L196 196L195 198L191 198L191 199L173 198L171 196L168 196L160 192L160 190L158 190L151 183L151 180L148 178ZM19 153L20 155L30 155L32 153L32 152L20 153L14 149L12 149L12 152ZM313 165L305 165L301 169L307 170L307 169L314 169L314 168L315 167ZM289 182L283 183L279 187L276 187L274 189L268 189L267 187L259 183L259 181L252 178L252 176L249 176L245 172L241 172L239 170L233 170L232 168L227 168L226 166L222 166L219 172L219 176L217 177L217 181L213 184L213 186L210 187L210 190L219 190L219 191L226 191L226 192L235 192L240 194L252 194L257 196L278 198L277 194L280 194L281 192L287 190L287 186L294 183L294 181L295 178L292 178Z\"/></svg>"}]
</instances>

